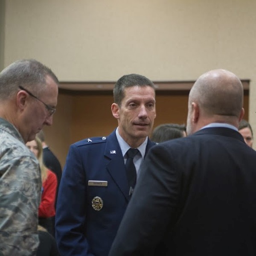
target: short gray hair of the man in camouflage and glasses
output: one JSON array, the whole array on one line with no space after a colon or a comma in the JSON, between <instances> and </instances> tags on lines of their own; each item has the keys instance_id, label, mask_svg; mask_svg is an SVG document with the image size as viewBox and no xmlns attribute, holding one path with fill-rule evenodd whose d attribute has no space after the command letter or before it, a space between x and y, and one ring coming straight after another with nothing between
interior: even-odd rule
<instances>
[{"instance_id":1,"label":"short gray hair of the man in camouflage and glasses","mask_svg":"<svg viewBox=\"0 0 256 256\"><path fill-rule=\"evenodd\" d=\"M58 78L52 70L39 61L34 59L15 61L0 73L0 99L12 97L19 90L19 86L32 92L40 92L46 87L47 76L58 84Z\"/></svg>"}]
</instances>

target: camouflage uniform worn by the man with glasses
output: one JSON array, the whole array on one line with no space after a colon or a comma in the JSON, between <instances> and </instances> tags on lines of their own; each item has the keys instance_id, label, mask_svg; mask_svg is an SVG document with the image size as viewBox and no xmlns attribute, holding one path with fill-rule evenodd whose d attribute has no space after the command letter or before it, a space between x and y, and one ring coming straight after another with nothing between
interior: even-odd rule
<instances>
[{"instance_id":1,"label":"camouflage uniform worn by the man with glasses","mask_svg":"<svg viewBox=\"0 0 256 256\"><path fill-rule=\"evenodd\" d=\"M35 255L41 173L17 129L0 118L0 255Z\"/></svg>"}]
</instances>

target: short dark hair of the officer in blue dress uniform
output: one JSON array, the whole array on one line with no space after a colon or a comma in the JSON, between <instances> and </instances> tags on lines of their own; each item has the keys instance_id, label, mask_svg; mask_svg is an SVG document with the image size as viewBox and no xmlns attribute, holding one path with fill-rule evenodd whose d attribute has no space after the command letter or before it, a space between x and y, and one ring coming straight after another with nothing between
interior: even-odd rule
<instances>
[{"instance_id":1,"label":"short dark hair of the officer in blue dress uniform","mask_svg":"<svg viewBox=\"0 0 256 256\"><path fill-rule=\"evenodd\" d=\"M122 76L117 80L115 87L113 89L114 102L117 105L121 106L122 99L125 97L124 89L132 86L140 86L140 87L150 86L155 91L154 83L150 79L146 78L145 76L141 76L138 74L130 74L130 75Z\"/></svg>"}]
</instances>

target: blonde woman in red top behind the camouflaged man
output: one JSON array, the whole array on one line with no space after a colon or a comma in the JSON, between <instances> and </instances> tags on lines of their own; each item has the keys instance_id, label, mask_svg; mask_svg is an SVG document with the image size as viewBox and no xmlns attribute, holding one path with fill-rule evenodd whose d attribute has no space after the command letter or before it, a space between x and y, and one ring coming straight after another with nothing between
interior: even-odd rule
<instances>
[{"instance_id":1,"label":"blonde woman in red top behind the camouflaged man","mask_svg":"<svg viewBox=\"0 0 256 256\"><path fill-rule=\"evenodd\" d=\"M43 164L43 147L41 140L38 137L35 137L35 140L27 142L26 146L35 154L41 169L42 195L41 203L38 208L38 223L52 234L52 217L55 216L54 205L57 177Z\"/></svg>"}]
</instances>

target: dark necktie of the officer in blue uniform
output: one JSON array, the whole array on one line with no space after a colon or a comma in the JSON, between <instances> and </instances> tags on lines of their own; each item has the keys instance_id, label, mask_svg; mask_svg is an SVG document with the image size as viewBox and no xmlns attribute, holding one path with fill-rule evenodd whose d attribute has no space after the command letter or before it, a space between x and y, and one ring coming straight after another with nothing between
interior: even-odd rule
<instances>
[{"instance_id":1,"label":"dark necktie of the officer in blue uniform","mask_svg":"<svg viewBox=\"0 0 256 256\"><path fill-rule=\"evenodd\" d=\"M130 187L130 192L129 195L131 195L135 185L136 185L136 180L137 180L137 172L136 168L134 166L133 159L136 156L136 154L139 152L137 148L130 148L127 152L127 160L125 163L125 169L126 169L126 175L128 179L128 184Z\"/></svg>"}]
</instances>

